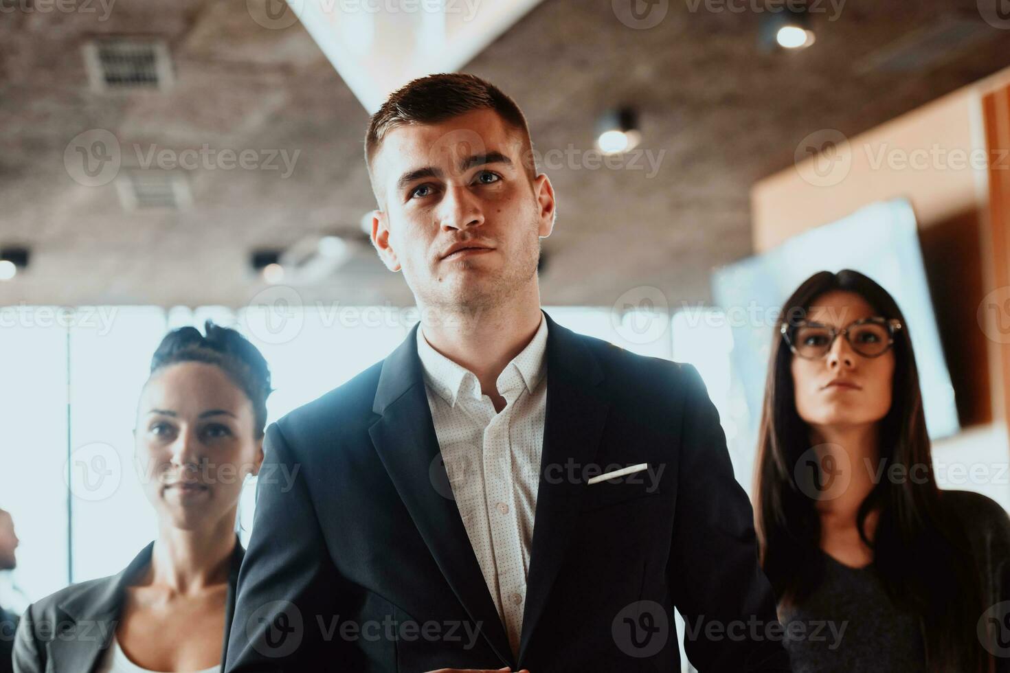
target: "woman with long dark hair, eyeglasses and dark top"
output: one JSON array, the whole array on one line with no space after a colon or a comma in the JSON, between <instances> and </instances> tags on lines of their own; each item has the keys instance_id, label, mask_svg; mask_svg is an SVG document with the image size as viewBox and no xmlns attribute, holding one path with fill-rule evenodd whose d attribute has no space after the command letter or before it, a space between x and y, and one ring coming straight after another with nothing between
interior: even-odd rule
<instances>
[{"instance_id":1,"label":"woman with long dark hair, eyeglasses and dark top","mask_svg":"<svg viewBox=\"0 0 1010 673\"><path fill-rule=\"evenodd\" d=\"M894 299L822 271L781 315L754 512L793 671L1007 670L1010 519L937 488Z\"/></svg>"}]
</instances>

